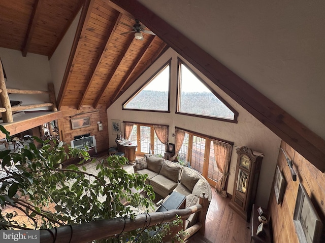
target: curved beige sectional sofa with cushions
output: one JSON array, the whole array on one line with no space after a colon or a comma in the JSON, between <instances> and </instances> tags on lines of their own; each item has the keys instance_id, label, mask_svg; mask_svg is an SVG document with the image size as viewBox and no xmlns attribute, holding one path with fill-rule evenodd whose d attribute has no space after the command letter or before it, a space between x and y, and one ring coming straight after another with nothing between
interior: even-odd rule
<instances>
[{"instance_id":1,"label":"curved beige sectional sofa with cushions","mask_svg":"<svg viewBox=\"0 0 325 243\"><path fill-rule=\"evenodd\" d=\"M199 197L204 192L211 201L212 191L208 181L197 171L180 166L177 163L149 154L136 160L134 172L147 174L146 183L153 187L154 192L166 197L173 191L186 196L186 207L199 204ZM186 228L196 223L197 214L186 219Z\"/></svg>"}]
</instances>

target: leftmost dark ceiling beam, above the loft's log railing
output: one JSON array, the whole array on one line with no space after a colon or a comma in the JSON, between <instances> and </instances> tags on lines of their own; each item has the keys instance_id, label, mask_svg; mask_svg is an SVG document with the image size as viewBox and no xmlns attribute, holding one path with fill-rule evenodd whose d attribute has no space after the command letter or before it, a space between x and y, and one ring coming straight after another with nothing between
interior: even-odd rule
<instances>
[{"instance_id":1,"label":"leftmost dark ceiling beam, above the loft's log railing","mask_svg":"<svg viewBox=\"0 0 325 243\"><path fill-rule=\"evenodd\" d=\"M37 21L40 17L41 11L42 11L43 1L44 0L35 0L35 4L32 9L32 12L31 12L31 17L29 19L26 37L24 39L24 44L23 44L22 51L21 51L23 57L25 57L27 55L32 35L34 34L34 30L35 30Z\"/></svg>"}]
</instances>

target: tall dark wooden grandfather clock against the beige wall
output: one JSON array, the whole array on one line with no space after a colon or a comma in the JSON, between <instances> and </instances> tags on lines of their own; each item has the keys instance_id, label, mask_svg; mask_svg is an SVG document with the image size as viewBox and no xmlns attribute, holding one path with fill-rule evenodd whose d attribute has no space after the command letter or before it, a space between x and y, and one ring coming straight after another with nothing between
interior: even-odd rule
<instances>
[{"instance_id":1,"label":"tall dark wooden grandfather clock against the beige wall","mask_svg":"<svg viewBox=\"0 0 325 243\"><path fill-rule=\"evenodd\" d=\"M229 206L245 220L249 220L255 201L263 153L252 151L246 146L237 148L237 167L233 197Z\"/></svg>"}]
</instances>

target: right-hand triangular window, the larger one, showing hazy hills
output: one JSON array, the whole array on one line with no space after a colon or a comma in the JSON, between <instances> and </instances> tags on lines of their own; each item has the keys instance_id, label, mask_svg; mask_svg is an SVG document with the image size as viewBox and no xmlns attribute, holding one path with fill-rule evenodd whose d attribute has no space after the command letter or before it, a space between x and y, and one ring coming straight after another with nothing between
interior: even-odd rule
<instances>
[{"instance_id":1,"label":"right-hand triangular window, the larger one, showing hazy hills","mask_svg":"<svg viewBox=\"0 0 325 243\"><path fill-rule=\"evenodd\" d=\"M179 60L177 113L237 121L238 112Z\"/></svg>"}]
</instances>

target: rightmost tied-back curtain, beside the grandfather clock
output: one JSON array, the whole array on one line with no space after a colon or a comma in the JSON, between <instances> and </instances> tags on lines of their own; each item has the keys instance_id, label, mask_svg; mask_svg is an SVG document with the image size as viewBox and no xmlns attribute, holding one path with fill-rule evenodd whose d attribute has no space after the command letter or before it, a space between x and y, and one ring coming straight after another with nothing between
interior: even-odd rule
<instances>
[{"instance_id":1,"label":"rightmost tied-back curtain, beside the grandfather clock","mask_svg":"<svg viewBox=\"0 0 325 243\"><path fill-rule=\"evenodd\" d=\"M218 170L220 173L222 173L222 177L220 180L218 180L214 189L220 196L226 198L227 193L224 190L224 186L229 175L228 169L230 164L230 157L232 154L232 145L229 143L213 140L213 148L214 148L214 158Z\"/></svg>"}]
</instances>

